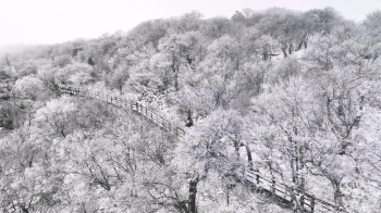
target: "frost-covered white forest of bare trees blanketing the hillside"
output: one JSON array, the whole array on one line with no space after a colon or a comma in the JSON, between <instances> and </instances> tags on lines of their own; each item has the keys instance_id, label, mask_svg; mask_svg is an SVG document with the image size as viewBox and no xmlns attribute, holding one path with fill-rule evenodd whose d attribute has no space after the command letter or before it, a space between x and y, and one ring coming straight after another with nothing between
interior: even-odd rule
<instances>
[{"instance_id":1,"label":"frost-covered white forest of bare trees blanketing the hillside","mask_svg":"<svg viewBox=\"0 0 381 213\"><path fill-rule=\"evenodd\" d=\"M193 11L2 53L0 212L380 212L381 10L369 12Z\"/></svg>"}]
</instances>

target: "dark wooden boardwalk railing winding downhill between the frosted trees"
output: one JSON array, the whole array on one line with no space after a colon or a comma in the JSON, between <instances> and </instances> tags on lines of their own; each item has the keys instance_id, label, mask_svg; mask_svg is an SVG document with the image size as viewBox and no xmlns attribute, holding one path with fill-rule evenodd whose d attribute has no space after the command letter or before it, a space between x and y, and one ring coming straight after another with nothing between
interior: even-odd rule
<instances>
[{"instance_id":1,"label":"dark wooden boardwalk railing winding downhill between the frosted trees","mask_svg":"<svg viewBox=\"0 0 381 213\"><path fill-rule=\"evenodd\" d=\"M171 122L156 113L152 109L144 106L142 103L100 92L81 91L79 88L63 85L60 85L59 89L62 93L82 96L85 98L100 100L122 109L131 109L133 112L148 118L151 123L156 124L167 133L173 134L176 137L182 137L185 135L185 130L183 128L173 125ZM299 208L302 208L304 212L345 212L343 209L335 205L333 201L315 198L312 195L302 192L299 189L288 187L281 181L268 178L263 174L253 171L251 168L245 168L241 175L243 180L254 191L262 195L266 198L272 199L283 208L292 209L296 203L298 203Z\"/></svg>"}]
</instances>

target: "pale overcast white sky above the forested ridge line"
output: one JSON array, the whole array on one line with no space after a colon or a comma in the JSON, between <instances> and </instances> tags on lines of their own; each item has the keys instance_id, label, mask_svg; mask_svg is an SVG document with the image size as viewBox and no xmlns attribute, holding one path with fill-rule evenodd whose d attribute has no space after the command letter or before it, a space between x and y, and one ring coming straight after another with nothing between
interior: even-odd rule
<instances>
[{"instance_id":1,"label":"pale overcast white sky above the forested ridge line","mask_svg":"<svg viewBox=\"0 0 381 213\"><path fill-rule=\"evenodd\" d=\"M236 10L271 7L298 11L333 7L360 22L381 0L0 0L0 46L54 43L131 29L143 21L197 10L231 17Z\"/></svg>"}]
</instances>

